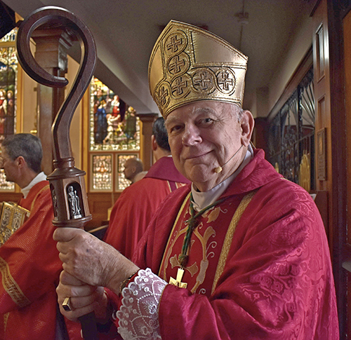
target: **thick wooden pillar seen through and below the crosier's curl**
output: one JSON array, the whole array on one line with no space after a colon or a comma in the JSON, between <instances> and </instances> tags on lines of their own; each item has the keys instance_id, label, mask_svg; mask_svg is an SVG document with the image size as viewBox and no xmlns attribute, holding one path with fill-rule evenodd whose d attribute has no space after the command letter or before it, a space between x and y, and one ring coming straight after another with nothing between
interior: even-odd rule
<instances>
[{"instance_id":1,"label":"thick wooden pillar seen through and below the crosier's curl","mask_svg":"<svg viewBox=\"0 0 351 340\"><path fill-rule=\"evenodd\" d=\"M67 50L72 40L62 29L39 28L32 38L36 43L35 60L46 72L54 76L67 73ZM65 100L65 88L48 88L38 84L37 88L39 115L37 118L38 137L43 145L42 170L46 175L53 172L53 141L51 125ZM33 113L34 114L34 113Z\"/></svg>"}]
</instances>

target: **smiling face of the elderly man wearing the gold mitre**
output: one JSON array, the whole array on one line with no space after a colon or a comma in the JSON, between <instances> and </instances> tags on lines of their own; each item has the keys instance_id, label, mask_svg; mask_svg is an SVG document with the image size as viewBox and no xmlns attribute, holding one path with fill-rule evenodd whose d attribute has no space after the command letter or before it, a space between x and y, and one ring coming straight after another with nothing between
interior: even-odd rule
<instances>
[{"instance_id":1,"label":"smiling face of the elderly man wearing the gold mitre","mask_svg":"<svg viewBox=\"0 0 351 340\"><path fill-rule=\"evenodd\" d=\"M243 144L236 112L234 104L201 101L175 109L166 118L174 163L200 191L223 182L244 158L248 142L232 158ZM225 163L223 171L216 173Z\"/></svg>"}]
</instances>

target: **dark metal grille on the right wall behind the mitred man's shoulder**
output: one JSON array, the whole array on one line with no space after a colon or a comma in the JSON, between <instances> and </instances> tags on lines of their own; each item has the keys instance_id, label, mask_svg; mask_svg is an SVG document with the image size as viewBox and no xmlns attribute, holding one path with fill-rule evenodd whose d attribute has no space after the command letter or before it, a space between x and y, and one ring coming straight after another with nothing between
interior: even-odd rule
<instances>
[{"instance_id":1,"label":"dark metal grille on the right wall behind the mitred man's shoulder","mask_svg":"<svg viewBox=\"0 0 351 340\"><path fill-rule=\"evenodd\" d=\"M307 191L315 189L313 93L311 68L270 121L267 143L268 161L286 179L300 184Z\"/></svg>"}]
</instances>

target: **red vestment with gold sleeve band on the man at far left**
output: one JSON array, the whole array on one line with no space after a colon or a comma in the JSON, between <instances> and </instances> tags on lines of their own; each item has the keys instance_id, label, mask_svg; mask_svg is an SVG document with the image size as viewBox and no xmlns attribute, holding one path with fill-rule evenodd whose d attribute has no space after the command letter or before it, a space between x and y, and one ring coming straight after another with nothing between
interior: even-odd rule
<instances>
[{"instance_id":1,"label":"red vestment with gold sleeve band on the man at far left","mask_svg":"<svg viewBox=\"0 0 351 340\"><path fill-rule=\"evenodd\" d=\"M0 339L55 339L62 262L53 240L53 204L47 181L35 184L20 206L27 221L0 247ZM69 322L69 339L81 339Z\"/></svg>"}]
</instances>

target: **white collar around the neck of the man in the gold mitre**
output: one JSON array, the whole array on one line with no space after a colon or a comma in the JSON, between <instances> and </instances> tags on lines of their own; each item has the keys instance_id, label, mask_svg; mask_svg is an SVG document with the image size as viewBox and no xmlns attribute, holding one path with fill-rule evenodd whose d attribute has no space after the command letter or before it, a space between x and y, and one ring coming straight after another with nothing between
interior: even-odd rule
<instances>
[{"instance_id":1,"label":"white collar around the neck of the man in the gold mitre","mask_svg":"<svg viewBox=\"0 0 351 340\"><path fill-rule=\"evenodd\" d=\"M244 161L242 161L239 168L237 168L237 170L235 170L235 172L232 175L230 175L230 177L225 179L223 182L216 185L211 190L208 190L205 192L197 191L194 184L192 184L192 199L193 199L192 203L194 206L194 210L200 211L201 209L206 208L208 205L216 202L216 200L220 197L220 195L222 195L225 189L227 189L229 184L234 181L234 178L237 177L239 172L245 167L246 164L249 163L249 161L251 161L251 158L253 158L253 149L251 147L251 144L249 144Z\"/></svg>"}]
</instances>

